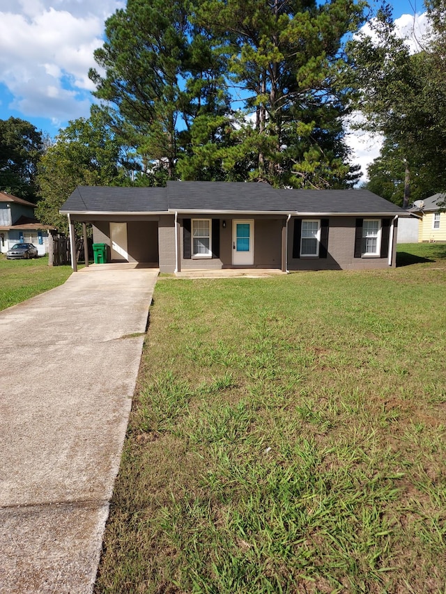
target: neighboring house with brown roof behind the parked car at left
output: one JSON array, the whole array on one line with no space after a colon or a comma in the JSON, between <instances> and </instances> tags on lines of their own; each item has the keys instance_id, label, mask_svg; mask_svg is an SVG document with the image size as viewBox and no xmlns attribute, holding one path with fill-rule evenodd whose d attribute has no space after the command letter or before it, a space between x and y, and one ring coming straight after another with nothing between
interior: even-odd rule
<instances>
[{"instance_id":1,"label":"neighboring house with brown roof behind the parked car at left","mask_svg":"<svg viewBox=\"0 0 446 594\"><path fill-rule=\"evenodd\" d=\"M36 205L0 192L0 251L6 253L16 243L33 243L39 256L48 251L48 232L52 229L34 218Z\"/></svg>"}]
</instances>

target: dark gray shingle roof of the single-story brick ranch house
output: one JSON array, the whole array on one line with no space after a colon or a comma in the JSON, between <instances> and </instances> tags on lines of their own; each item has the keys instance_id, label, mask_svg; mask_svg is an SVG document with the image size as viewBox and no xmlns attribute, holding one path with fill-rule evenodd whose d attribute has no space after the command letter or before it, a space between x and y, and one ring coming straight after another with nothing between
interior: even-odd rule
<instances>
[{"instance_id":1,"label":"dark gray shingle roof of the single-story brick ranch house","mask_svg":"<svg viewBox=\"0 0 446 594\"><path fill-rule=\"evenodd\" d=\"M368 190L285 190L265 183L167 182L165 188L79 186L61 212L407 214Z\"/></svg>"}]
</instances>

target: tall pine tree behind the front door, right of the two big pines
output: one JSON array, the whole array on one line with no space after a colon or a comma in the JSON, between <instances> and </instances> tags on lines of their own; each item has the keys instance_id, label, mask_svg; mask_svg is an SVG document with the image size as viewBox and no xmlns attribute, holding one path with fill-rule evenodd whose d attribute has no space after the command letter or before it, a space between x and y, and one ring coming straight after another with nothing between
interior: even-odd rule
<instances>
[{"instance_id":1,"label":"tall pine tree behind the front door, right of the two big pines","mask_svg":"<svg viewBox=\"0 0 446 594\"><path fill-rule=\"evenodd\" d=\"M227 56L233 95L254 114L246 153L252 177L275 186L331 187L348 180L339 79L348 31L362 8L350 0L204 0L198 18Z\"/></svg>"}]
</instances>

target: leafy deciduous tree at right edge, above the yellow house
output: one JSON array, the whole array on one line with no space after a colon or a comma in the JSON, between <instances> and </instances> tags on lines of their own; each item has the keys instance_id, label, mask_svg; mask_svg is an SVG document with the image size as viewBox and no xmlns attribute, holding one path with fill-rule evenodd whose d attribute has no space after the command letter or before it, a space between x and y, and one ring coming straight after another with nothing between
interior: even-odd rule
<instances>
[{"instance_id":1,"label":"leafy deciduous tree at right edge, above the yellow house","mask_svg":"<svg viewBox=\"0 0 446 594\"><path fill-rule=\"evenodd\" d=\"M394 191L387 180L380 192L398 202L402 184L406 207L446 187L446 79L438 66L438 40L444 32L412 54L396 35L390 10L378 14L372 29L373 37L359 36L349 48L355 63L351 84L357 87L357 108L364 116L361 126L386 139L371 167L369 187L380 184L383 167L392 171L391 177L402 170ZM399 167L394 159L399 159Z\"/></svg>"}]
</instances>

